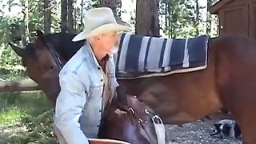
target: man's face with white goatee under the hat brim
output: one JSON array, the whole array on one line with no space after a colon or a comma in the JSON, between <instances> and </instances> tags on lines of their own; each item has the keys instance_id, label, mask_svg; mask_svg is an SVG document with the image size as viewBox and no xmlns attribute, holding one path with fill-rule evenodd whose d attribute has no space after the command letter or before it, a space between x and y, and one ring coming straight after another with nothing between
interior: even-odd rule
<instances>
[{"instance_id":1,"label":"man's face with white goatee under the hat brim","mask_svg":"<svg viewBox=\"0 0 256 144\"><path fill-rule=\"evenodd\" d=\"M106 50L107 53L113 53L118 49L118 32L109 32L100 36L100 42L102 50Z\"/></svg>"}]
</instances>

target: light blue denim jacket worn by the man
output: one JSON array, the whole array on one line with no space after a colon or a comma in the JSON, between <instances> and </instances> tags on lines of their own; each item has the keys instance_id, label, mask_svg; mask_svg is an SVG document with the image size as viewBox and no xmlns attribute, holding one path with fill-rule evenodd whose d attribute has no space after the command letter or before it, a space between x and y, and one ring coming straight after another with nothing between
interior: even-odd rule
<instances>
[{"instance_id":1,"label":"light blue denim jacket worn by the man","mask_svg":"<svg viewBox=\"0 0 256 144\"><path fill-rule=\"evenodd\" d=\"M106 62L113 97L118 82L113 55ZM59 74L54 124L68 144L87 144L96 138L102 118L103 71L88 43L63 66Z\"/></svg>"}]
</instances>

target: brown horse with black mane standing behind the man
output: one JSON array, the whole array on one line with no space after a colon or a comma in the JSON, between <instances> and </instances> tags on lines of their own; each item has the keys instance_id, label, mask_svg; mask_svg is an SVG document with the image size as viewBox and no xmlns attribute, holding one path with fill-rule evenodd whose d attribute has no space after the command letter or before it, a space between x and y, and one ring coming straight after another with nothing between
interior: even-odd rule
<instances>
[{"instance_id":1,"label":"brown horse with black mane standing behind the man","mask_svg":"<svg viewBox=\"0 0 256 144\"><path fill-rule=\"evenodd\" d=\"M62 37L62 38L61 38ZM38 32L37 41L13 50L22 57L30 78L38 82L54 103L58 93L58 72L66 55L72 56L84 42L71 42L74 34ZM72 46L71 46L72 45ZM137 47L134 47L136 50ZM64 51L73 51L65 53ZM51 52L54 51L54 52ZM59 56L58 56L59 54ZM160 115L166 124L193 122L222 107L234 114L244 143L256 143L256 43L238 36L211 38L205 70L162 77L118 79L127 93L137 95ZM67 59L65 59L65 57ZM54 86L50 88L48 86Z\"/></svg>"}]
</instances>

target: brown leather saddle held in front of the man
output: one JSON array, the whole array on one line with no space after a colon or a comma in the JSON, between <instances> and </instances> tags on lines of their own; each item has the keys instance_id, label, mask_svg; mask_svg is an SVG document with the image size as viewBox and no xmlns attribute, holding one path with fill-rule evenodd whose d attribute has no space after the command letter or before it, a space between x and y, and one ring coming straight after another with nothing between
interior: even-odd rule
<instances>
[{"instance_id":1,"label":"brown leather saddle held in front of the man","mask_svg":"<svg viewBox=\"0 0 256 144\"><path fill-rule=\"evenodd\" d=\"M116 94L103 113L99 138L113 138L136 144L165 143L165 129L161 118L136 96L127 95L118 86Z\"/></svg>"}]
</instances>

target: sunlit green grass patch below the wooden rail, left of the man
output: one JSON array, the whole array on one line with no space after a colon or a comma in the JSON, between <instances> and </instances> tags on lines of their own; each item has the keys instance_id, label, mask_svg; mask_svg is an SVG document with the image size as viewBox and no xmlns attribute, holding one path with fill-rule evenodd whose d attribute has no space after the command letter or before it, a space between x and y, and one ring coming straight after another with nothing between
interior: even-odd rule
<instances>
[{"instance_id":1,"label":"sunlit green grass patch below the wooden rail, left of the man","mask_svg":"<svg viewBox=\"0 0 256 144\"><path fill-rule=\"evenodd\" d=\"M57 143L53 108L41 91L2 93L0 108L0 143Z\"/></svg>"}]
</instances>

